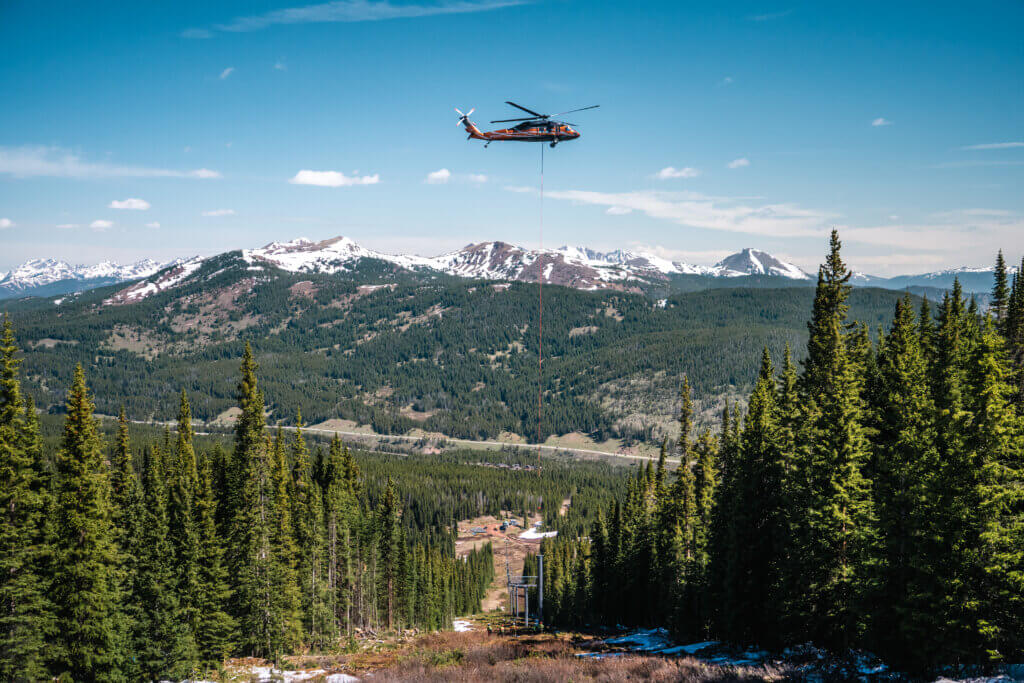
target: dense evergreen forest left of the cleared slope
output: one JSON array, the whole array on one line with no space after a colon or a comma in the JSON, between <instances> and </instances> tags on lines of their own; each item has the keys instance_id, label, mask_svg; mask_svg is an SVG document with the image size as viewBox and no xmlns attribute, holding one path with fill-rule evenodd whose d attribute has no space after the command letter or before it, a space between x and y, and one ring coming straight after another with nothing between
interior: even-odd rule
<instances>
[{"instance_id":1,"label":"dense evergreen forest left of the cleared slope","mask_svg":"<svg viewBox=\"0 0 1024 683\"><path fill-rule=\"evenodd\" d=\"M544 501L567 495L596 514L623 489L607 466L541 477L482 454L360 467L337 438L312 451L301 428L268 430L248 347L230 449L197 439L183 391L173 432L134 444L122 412L105 443L81 368L59 438L43 438L20 361L5 318L2 680L180 680L237 654L337 650L357 629L447 629L494 575L489 545L456 558L457 515L554 519Z\"/></svg>"}]
</instances>

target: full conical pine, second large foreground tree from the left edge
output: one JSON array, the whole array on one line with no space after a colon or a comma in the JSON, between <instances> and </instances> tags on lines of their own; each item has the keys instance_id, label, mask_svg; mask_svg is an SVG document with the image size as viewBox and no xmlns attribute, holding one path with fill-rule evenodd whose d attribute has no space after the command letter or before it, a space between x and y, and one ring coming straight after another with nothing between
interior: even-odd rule
<instances>
[{"instance_id":1,"label":"full conical pine, second large foreground tree from the left edge","mask_svg":"<svg viewBox=\"0 0 1024 683\"><path fill-rule=\"evenodd\" d=\"M111 523L110 474L82 367L68 396L56 457L53 588L56 671L115 680L124 666L121 558Z\"/></svg>"}]
</instances>

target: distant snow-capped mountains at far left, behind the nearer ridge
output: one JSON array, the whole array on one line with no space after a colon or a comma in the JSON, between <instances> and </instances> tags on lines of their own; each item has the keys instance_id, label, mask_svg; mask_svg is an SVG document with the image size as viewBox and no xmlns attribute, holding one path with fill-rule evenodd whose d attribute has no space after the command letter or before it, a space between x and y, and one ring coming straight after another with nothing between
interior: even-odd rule
<instances>
[{"instance_id":1,"label":"distant snow-capped mountains at far left, behind the nearer ridge","mask_svg":"<svg viewBox=\"0 0 1024 683\"><path fill-rule=\"evenodd\" d=\"M127 265L119 265L113 261L95 265L71 265L53 258L30 259L0 279L0 299L81 292L146 278L166 265L148 258Z\"/></svg>"}]
</instances>

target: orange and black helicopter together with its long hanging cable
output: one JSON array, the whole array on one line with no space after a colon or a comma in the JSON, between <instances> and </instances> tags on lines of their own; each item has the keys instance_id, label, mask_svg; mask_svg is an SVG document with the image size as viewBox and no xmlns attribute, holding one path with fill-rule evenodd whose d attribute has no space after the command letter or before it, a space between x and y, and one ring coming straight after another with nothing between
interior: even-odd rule
<instances>
[{"instance_id":1,"label":"orange and black helicopter together with its long hanging cable","mask_svg":"<svg viewBox=\"0 0 1024 683\"><path fill-rule=\"evenodd\" d=\"M518 118L518 119L497 119L490 123L516 123L515 126L511 128L502 128L499 130L492 131L481 131L476 125L469 120L470 115L475 111L474 109L469 110L466 114L463 114L458 109L456 113L459 115L459 122L456 125L461 125L469 133L467 139L476 140L486 140L483 146L488 146L495 141L508 141L508 142L548 142L552 148L555 147L559 142L564 142L567 140L574 140L580 137L580 133L572 128L575 124L566 123L564 121L557 121L555 117L560 117L563 114L572 114L574 112L586 112L587 110L593 110L600 106L600 104L592 104L590 106L583 106L575 110L569 110L567 112L560 112L558 114L539 114L534 110L526 109L521 104L516 104L513 101L506 100L506 104L510 104L517 110L521 110L528 114L528 117ZM541 471L541 450L543 446L542 434L542 416L544 410L544 146L541 146L541 207L540 207L540 223L541 223L541 241L539 256L537 258L538 273L537 273L537 304L538 304L538 323L537 323L537 470L540 474Z\"/></svg>"}]
</instances>

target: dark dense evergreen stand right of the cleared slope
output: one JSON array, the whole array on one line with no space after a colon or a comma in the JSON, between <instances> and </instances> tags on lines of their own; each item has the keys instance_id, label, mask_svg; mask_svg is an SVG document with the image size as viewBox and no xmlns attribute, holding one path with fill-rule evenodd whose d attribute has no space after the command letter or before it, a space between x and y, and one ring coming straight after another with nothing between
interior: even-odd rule
<instances>
[{"instance_id":1,"label":"dark dense evergreen stand right of the cleared slope","mask_svg":"<svg viewBox=\"0 0 1024 683\"><path fill-rule=\"evenodd\" d=\"M743 415L639 472L583 540L546 540L559 626L867 648L923 675L1024 658L1024 275L983 315L958 284L872 343L834 232L806 359L765 350ZM530 560L530 567L532 562Z\"/></svg>"}]
</instances>

